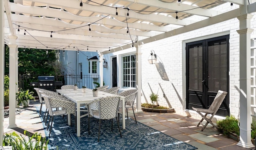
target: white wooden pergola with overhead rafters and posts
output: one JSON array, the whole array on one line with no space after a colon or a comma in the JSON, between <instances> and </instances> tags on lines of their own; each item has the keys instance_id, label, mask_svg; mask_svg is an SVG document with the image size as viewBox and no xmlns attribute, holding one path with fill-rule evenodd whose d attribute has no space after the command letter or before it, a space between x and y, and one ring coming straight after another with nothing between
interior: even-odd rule
<instances>
[{"instance_id":1,"label":"white wooden pergola with overhead rafters and posts","mask_svg":"<svg viewBox=\"0 0 256 150\"><path fill-rule=\"evenodd\" d=\"M250 13L256 0L1 0L0 87L4 87L4 44L10 48L9 128L15 123L18 47L97 51L102 55L136 47L141 91L140 45L238 18L240 29L240 142L250 148ZM214 8L234 5L225 12ZM81 7L82 6L82 7ZM196 19L195 19L196 18ZM90 31L91 30L91 31ZM19 31L19 32L18 32ZM26 35L24 35L26 33ZM52 37L51 37L52 36ZM245 51L246 50L246 51ZM102 62L102 61L100 61ZM102 67L100 74L102 76ZM101 81L103 82L103 81ZM0 88L4 99L4 89ZM140 98L137 99L137 104ZM3 120L4 103L0 104ZM140 108L140 106L137 106ZM1 123L0 136L3 136ZM0 139L2 143L2 138Z\"/></svg>"}]
</instances>

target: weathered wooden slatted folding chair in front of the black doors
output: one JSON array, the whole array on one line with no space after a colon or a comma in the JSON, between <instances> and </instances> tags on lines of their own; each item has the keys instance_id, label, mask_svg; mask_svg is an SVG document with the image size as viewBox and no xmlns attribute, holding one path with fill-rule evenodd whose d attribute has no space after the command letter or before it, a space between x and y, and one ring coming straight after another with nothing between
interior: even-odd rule
<instances>
[{"instance_id":1,"label":"weathered wooden slatted folding chair in front of the black doors","mask_svg":"<svg viewBox=\"0 0 256 150\"><path fill-rule=\"evenodd\" d=\"M194 111L196 111L199 115L202 116L202 119L198 123L197 127L202 123L203 120L207 121L207 123L204 125L204 127L202 128L201 131L203 131L206 128L208 123L210 123L213 127L218 129L218 127L216 125L214 125L214 123L212 123L211 120L214 117L214 115L217 113L218 109L220 108L220 105L221 105L222 101L224 100L224 98L226 97L227 94L228 94L228 92L219 90L209 109L192 107L192 109L194 109ZM205 114L203 115L202 113L205 113ZM208 114L212 115L209 119L206 117Z\"/></svg>"}]
</instances>

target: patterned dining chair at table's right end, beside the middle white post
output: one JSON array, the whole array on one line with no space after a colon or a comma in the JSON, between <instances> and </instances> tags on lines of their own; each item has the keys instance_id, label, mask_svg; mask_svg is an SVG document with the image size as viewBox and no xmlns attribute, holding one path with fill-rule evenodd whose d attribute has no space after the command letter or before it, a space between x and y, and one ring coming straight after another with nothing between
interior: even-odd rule
<instances>
[{"instance_id":1,"label":"patterned dining chair at table's right end, beside the middle white post","mask_svg":"<svg viewBox=\"0 0 256 150\"><path fill-rule=\"evenodd\" d=\"M135 122L136 121L136 117L135 117L135 113L134 113L134 101L136 99L136 94L138 93L138 90L136 89L132 89L132 90L126 90L124 92L119 93L118 95L125 97L125 108L126 108L126 113L127 113L127 119L128 119L128 108L132 108L133 111L133 115L134 115L134 119ZM122 101L120 102L120 108L122 108ZM120 113L120 112L119 112ZM119 118L119 113L118 113L118 118Z\"/></svg>"}]
</instances>

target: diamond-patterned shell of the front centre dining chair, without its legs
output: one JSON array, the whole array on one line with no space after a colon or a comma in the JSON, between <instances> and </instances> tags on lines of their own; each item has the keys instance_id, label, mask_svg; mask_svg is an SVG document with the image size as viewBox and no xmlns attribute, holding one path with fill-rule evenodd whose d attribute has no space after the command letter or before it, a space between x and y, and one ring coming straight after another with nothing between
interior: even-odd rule
<instances>
[{"instance_id":1,"label":"diamond-patterned shell of the front centre dining chair, without its legs","mask_svg":"<svg viewBox=\"0 0 256 150\"><path fill-rule=\"evenodd\" d=\"M117 116L119 103L119 96L100 97L88 104L89 113L97 119L113 119ZM92 109L95 105L99 106L96 110Z\"/></svg>"}]
</instances>

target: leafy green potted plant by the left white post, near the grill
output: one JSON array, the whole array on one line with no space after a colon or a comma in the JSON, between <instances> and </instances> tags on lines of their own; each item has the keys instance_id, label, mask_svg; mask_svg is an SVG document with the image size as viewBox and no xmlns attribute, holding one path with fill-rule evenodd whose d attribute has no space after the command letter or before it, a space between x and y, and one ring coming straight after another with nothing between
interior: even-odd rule
<instances>
[{"instance_id":1,"label":"leafy green potted plant by the left white post, near the grill","mask_svg":"<svg viewBox=\"0 0 256 150\"><path fill-rule=\"evenodd\" d=\"M22 90L16 94L16 100L18 101L18 105L22 104L23 107L28 107L29 100L35 99L33 96L34 92L29 92L29 90Z\"/></svg>"}]
</instances>

